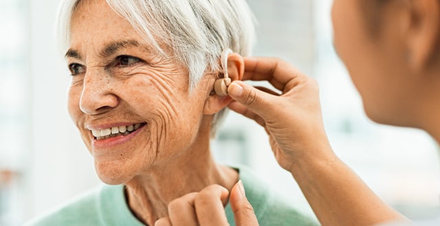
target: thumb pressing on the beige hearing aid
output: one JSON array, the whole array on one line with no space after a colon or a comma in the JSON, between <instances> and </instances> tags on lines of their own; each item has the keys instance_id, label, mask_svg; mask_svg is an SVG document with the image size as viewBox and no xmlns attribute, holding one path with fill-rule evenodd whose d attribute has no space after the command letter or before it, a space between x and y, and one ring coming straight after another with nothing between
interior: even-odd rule
<instances>
[{"instance_id":1,"label":"thumb pressing on the beige hearing aid","mask_svg":"<svg viewBox=\"0 0 440 226\"><path fill-rule=\"evenodd\" d=\"M247 108L263 116L267 112L271 112L272 95L263 92L243 81L233 81L228 87L228 94L235 101L245 105Z\"/></svg>"}]
</instances>

